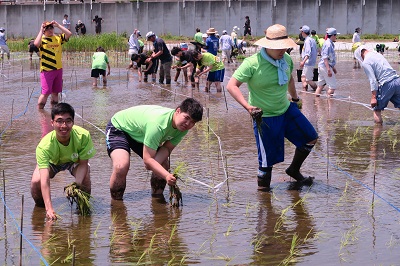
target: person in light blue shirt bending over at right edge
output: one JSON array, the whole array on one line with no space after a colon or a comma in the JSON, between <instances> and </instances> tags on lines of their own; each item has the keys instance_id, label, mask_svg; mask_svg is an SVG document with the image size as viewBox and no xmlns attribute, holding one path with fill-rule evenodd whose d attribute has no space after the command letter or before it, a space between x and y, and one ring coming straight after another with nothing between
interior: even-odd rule
<instances>
[{"instance_id":1,"label":"person in light blue shirt bending over at right edge","mask_svg":"<svg viewBox=\"0 0 400 266\"><path fill-rule=\"evenodd\" d=\"M371 87L371 107L374 109L374 120L382 124L382 110L389 101L395 108L400 108L400 78L386 58L365 45L360 45L354 52L360 61Z\"/></svg>"}]
</instances>

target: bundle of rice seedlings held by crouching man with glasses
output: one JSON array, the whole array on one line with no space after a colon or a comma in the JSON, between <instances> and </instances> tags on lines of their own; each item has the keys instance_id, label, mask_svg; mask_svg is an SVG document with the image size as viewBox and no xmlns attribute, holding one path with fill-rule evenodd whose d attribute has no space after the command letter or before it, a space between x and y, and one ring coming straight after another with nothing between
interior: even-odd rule
<instances>
[{"instance_id":1,"label":"bundle of rice seedlings held by crouching man with glasses","mask_svg":"<svg viewBox=\"0 0 400 266\"><path fill-rule=\"evenodd\" d=\"M93 198L92 195L81 190L75 182L66 186L64 192L71 206L74 202L76 203L81 215L88 216L92 213L93 206L90 203L90 199Z\"/></svg>"}]
</instances>

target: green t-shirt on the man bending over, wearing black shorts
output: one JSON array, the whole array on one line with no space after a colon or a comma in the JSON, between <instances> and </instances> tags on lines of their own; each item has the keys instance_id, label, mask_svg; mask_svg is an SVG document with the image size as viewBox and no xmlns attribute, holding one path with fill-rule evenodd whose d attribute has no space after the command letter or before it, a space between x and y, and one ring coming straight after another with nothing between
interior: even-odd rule
<instances>
[{"instance_id":1,"label":"green t-shirt on the man bending over, wearing black shorts","mask_svg":"<svg viewBox=\"0 0 400 266\"><path fill-rule=\"evenodd\" d=\"M172 127L175 109L157 105L139 105L117 112L111 123L137 142L157 150L169 140L174 146L187 134Z\"/></svg>"}]
</instances>

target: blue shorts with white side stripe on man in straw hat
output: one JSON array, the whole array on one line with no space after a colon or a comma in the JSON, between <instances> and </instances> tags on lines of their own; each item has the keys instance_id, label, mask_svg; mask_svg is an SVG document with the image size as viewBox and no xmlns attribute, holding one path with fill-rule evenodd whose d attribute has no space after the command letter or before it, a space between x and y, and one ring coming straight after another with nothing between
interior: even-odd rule
<instances>
[{"instance_id":1,"label":"blue shorts with white side stripe on man in straw hat","mask_svg":"<svg viewBox=\"0 0 400 266\"><path fill-rule=\"evenodd\" d=\"M280 116L263 117L261 134L254 121L253 128L260 167L271 167L284 161L285 138L298 148L318 138L314 127L296 103L290 103L288 110Z\"/></svg>"}]
</instances>

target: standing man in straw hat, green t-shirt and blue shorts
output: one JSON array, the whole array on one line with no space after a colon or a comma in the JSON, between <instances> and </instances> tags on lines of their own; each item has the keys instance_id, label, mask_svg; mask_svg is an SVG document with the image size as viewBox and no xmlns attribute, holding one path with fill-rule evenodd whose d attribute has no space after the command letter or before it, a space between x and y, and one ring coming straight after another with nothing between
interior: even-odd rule
<instances>
[{"instance_id":1,"label":"standing man in straw hat, green t-shirt and blue shorts","mask_svg":"<svg viewBox=\"0 0 400 266\"><path fill-rule=\"evenodd\" d=\"M284 26L275 24L255 44L261 46L261 51L243 61L227 89L253 117L259 190L270 190L272 167L284 161L284 138L296 145L286 173L297 181L295 184L311 185L313 177L303 176L300 167L317 142L318 134L297 105L300 99L291 75L293 61L286 53L296 43L287 36ZM244 82L249 89L248 102L239 89Z\"/></svg>"}]
</instances>

